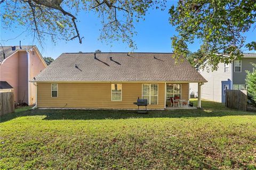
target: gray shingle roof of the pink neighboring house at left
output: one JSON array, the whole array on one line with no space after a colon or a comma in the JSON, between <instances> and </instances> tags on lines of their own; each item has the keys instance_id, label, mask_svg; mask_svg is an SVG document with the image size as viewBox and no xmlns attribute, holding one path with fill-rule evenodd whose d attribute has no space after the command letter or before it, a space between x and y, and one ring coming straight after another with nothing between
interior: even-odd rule
<instances>
[{"instance_id":1,"label":"gray shingle roof of the pink neighboring house at left","mask_svg":"<svg viewBox=\"0 0 256 170\"><path fill-rule=\"evenodd\" d=\"M0 46L0 61L4 60L3 50L5 54L5 59L8 58L10 55L12 55L16 51L26 51L33 48L34 45L22 45L20 46Z\"/></svg>"}]
</instances>

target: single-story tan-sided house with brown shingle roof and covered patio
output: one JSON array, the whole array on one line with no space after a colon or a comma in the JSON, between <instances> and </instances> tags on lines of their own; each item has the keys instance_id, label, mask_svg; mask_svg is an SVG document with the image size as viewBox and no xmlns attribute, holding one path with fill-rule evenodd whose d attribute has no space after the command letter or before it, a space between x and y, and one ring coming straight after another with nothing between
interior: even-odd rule
<instances>
[{"instance_id":1,"label":"single-story tan-sided house with brown shingle roof and covered patio","mask_svg":"<svg viewBox=\"0 0 256 170\"><path fill-rule=\"evenodd\" d=\"M38 108L166 108L169 97L189 100L189 83L207 82L173 53L62 53L32 81ZM198 89L199 89L198 88ZM200 93L200 92L199 92ZM199 99L200 101L200 99ZM201 107L201 102L198 102Z\"/></svg>"}]
</instances>

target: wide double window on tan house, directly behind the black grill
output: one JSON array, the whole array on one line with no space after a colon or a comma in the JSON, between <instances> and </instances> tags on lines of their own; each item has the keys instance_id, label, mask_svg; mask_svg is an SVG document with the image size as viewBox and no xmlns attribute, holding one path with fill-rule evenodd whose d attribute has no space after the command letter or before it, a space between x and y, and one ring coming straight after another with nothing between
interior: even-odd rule
<instances>
[{"instance_id":1,"label":"wide double window on tan house, directly behind the black grill","mask_svg":"<svg viewBox=\"0 0 256 170\"><path fill-rule=\"evenodd\" d=\"M158 104L158 84L142 84L142 99L148 104Z\"/></svg>"}]
</instances>

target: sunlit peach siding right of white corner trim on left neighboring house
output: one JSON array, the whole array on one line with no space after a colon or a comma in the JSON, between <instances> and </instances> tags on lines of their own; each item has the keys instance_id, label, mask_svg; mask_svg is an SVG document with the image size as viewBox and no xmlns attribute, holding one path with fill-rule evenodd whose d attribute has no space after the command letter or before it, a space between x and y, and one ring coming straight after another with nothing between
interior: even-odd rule
<instances>
[{"instance_id":1,"label":"sunlit peach siding right of white corner trim on left neighboring house","mask_svg":"<svg viewBox=\"0 0 256 170\"><path fill-rule=\"evenodd\" d=\"M29 52L29 60L29 80L32 80L45 68L45 65L36 51L35 55L31 51ZM29 105L35 104L35 102L36 86L34 83L29 83Z\"/></svg>"}]
</instances>

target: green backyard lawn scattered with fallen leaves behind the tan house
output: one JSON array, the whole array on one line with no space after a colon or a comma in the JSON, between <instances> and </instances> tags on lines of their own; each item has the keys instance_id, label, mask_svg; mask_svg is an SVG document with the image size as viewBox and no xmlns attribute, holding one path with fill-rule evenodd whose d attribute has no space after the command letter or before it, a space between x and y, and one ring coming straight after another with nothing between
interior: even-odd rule
<instances>
[{"instance_id":1,"label":"green backyard lawn scattered with fallen leaves behind the tan house","mask_svg":"<svg viewBox=\"0 0 256 170\"><path fill-rule=\"evenodd\" d=\"M21 108L1 118L0 169L256 169L256 112L202 107Z\"/></svg>"}]
</instances>

